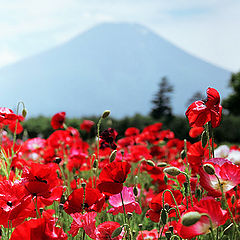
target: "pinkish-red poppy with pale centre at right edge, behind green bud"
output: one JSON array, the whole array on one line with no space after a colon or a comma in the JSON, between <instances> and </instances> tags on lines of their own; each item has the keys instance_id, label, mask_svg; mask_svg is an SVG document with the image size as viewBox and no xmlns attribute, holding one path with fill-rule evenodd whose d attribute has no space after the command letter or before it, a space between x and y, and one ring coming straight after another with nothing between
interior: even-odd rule
<instances>
[{"instance_id":1,"label":"pinkish-red poppy with pale centre at right edge, behind green bud","mask_svg":"<svg viewBox=\"0 0 240 240\"><path fill-rule=\"evenodd\" d=\"M240 184L240 167L225 158L212 158L205 163L214 166L216 175L219 177L223 191L227 192ZM207 174L203 168L199 169L200 185L207 190L208 194L214 197L222 195L217 178Z\"/></svg>"}]
</instances>

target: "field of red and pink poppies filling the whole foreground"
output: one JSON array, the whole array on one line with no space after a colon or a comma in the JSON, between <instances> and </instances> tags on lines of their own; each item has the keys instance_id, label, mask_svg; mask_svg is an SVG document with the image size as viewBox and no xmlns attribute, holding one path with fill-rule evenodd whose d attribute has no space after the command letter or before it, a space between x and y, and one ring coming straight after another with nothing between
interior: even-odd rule
<instances>
[{"instance_id":1,"label":"field of red and pink poppies filling the whole foreground","mask_svg":"<svg viewBox=\"0 0 240 240\"><path fill-rule=\"evenodd\" d=\"M109 110L79 126L94 139L59 112L47 139L22 140L26 114L0 108L1 239L240 239L240 147L214 142L216 89L186 110L192 142L160 122L119 139Z\"/></svg>"}]
</instances>

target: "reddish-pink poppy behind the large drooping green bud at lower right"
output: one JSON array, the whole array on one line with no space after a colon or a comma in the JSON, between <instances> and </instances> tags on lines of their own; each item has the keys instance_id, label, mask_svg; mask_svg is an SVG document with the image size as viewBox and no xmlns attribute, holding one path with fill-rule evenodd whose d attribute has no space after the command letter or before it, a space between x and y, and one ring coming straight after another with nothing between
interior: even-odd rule
<instances>
[{"instance_id":1,"label":"reddish-pink poppy behind the large drooping green bud at lower right","mask_svg":"<svg viewBox=\"0 0 240 240\"><path fill-rule=\"evenodd\" d=\"M200 200L197 205L194 205L187 212L199 212L199 213L207 213L213 223L213 228L223 225L228 219L228 213L226 210L222 210L220 207L220 203L216 202L213 198L206 198ZM184 214L186 214L185 212ZM207 234L209 232L210 222L207 216L202 216L200 220L189 226L183 226L181 223L181 219L177 224L177 232L178 235L184 239L192 239L198 235Z\"/></svg>"}]
</instances>

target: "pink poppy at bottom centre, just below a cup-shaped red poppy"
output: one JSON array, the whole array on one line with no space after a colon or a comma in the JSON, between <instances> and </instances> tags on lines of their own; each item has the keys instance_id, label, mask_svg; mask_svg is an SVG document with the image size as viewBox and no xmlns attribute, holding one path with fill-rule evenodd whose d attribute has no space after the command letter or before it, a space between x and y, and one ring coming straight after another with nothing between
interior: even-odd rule
<instances>
[{"instance_id":1,"label":"pink poppy at bottom centre, just below a cup-shaped red poppy","mask_svg":"<svg viewBox=\"0 0 240 240\"><path fill-rule=\"evenodd\" d=\"M122 197L126 213L132 213L134 211L137 214L142 213L142 209L139 203L135 200L132 187L123 187ZM113 208L109 209L108 213L112 213L113 215L117 215L118 213L124 213L120 193L110 196L109 203L113 206Z\"/></svg>"}]
</instances>

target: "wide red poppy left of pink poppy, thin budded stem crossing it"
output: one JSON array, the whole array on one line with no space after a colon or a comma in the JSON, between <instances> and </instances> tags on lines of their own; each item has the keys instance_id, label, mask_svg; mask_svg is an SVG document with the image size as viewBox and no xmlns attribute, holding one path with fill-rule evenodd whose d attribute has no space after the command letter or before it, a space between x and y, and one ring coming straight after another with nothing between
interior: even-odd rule
<instances>
[{"instance_id":1,"label":"wide red poppy left of pink poppy, thin budded stem crossing it","mask_svg":"<svg viewBox=\"0 0 240 240\"><path fill-rule=\"evenodd\" d=\"M83 188L74 190L64 203L64 210L67 214L83 211ZM105 197L97 189L85 188L84 210L87 212L101 212Z\"/></svg>"}]
</instances>

